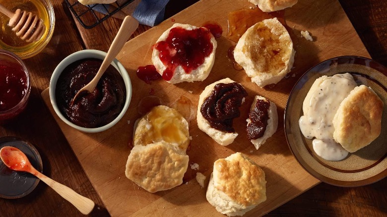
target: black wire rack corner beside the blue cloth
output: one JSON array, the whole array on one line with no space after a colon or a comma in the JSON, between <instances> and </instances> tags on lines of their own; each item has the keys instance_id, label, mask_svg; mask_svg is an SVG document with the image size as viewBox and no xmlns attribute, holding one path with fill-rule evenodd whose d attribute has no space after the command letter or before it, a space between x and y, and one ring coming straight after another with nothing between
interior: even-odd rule
<instances>
[{"instance_id":1,"label":"black wire rack corner beside the blue cloth","mask_svg":"<svg viewBox=\"0 0 387 217\"><path fill-rule=\"evenodd\" d=\"M126 0L124 2L120 1L120 3L115 2L112 3L113 7L107 7L105 4L83 5L79 3L78 0L65 0L71 13L85 29L91 29L102 23L132 1L133 0ZM102 13L96 11L96 7L98 7L98 10Z\"/></svg>"}]
</instances>

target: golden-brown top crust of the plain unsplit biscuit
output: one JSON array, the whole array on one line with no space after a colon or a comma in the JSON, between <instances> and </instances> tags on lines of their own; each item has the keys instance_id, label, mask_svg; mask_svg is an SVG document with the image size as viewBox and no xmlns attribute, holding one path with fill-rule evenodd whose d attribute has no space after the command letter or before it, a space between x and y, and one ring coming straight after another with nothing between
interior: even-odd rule
<instances>
[{"instance_id":1,"label":"golden-brown top crust of the plain unsplit biscuit","mask_svg":"<svg viewBox=\"0 0 387 217\"><path fill-rule=\"evenodd\" d=\"M265 173L239 152L217 160L213 178L215 188L241 205L257 205L266 200Z\"/></svg>"}]
</instances>

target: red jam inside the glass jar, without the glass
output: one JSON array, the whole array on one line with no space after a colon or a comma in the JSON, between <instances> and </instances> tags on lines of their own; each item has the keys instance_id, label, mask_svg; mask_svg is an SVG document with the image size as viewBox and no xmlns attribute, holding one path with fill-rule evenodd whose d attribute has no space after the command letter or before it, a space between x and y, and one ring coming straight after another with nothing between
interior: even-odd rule
<instances>
[{"instance_id":1,"label":"red jam inside the glass jar, without the glass","mask_svg":"<svg viewBox=\"0 0 387 217\"><path fill-rule=\"evenodd\" d=\"M0 62L0 112L12 109L23 99L28 89L27 82L22 66Z\"/></svg>"}]
</instances>

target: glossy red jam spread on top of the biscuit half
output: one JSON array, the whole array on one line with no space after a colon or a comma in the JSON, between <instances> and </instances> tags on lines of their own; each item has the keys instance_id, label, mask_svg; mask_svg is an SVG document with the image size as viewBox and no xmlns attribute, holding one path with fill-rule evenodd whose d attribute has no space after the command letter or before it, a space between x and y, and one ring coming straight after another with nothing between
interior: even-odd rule
<instances>
[{"instance_id":1,"label":"glossy red jam spread on top of the biscuit half","mask_svg":"<svg viewBox=\"0 0 387 217\"><path fill-rule=\"evenodd\" d=\"M156 43L154 49L159 51L160 60L167 67L163 79L172 79L177 66L181 65L189 74L203 64L205 57L212 53L211 32L206 28L186 30L175 27L170 30L165 41Z\"/></svg>"}]
</instances>

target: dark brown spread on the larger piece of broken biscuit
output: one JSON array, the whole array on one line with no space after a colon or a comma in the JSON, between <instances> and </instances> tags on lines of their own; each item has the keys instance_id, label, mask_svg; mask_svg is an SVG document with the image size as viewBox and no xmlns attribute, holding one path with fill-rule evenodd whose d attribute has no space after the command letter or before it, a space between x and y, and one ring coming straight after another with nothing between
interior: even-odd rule
<instances>
[{"instance_id":1,"label":"dark brown spread on the larger piece of broken biscuit","mask_svg":"<svg viewBox=\"0 0 387 217\"><path fill-rule=\"evenodd\" d=\"M216 84L211 95L204 100L200 112L210 126L224 132L235 132L233 119L239 117L246 90L237 82Z\"/></svg>"}]
</instances>

